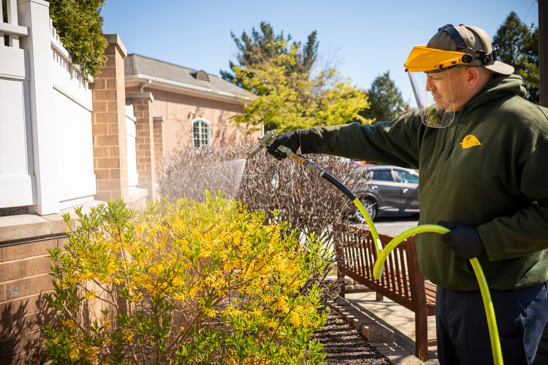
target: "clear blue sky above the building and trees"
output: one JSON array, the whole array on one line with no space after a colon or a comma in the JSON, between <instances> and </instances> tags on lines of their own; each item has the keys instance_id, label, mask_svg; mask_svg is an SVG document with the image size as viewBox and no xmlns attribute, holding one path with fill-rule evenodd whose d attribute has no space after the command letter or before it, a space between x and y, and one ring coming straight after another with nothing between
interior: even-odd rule
<instances>
[{"instance_id":1,"label":"clear blue sky above the building and trees","mask_svg":"<svg viewBox=\"0 0 548 365\"><path fill-rule=\"evenodd\" d=\"M538 24L533 0L106 0L102 16L104 33L118 33L128 53L217 75L235 60L230 31L249 34L264 20L276 33L283 30L304 42L316 30L319 54L334 56L339 71L353 84L368 89L376 76L390 71L403 99L414 103L403 63L415 45L425 45L448 23L475 25L493 36L510 11L522 21L529 11L526 24Z\"/></svg>"}]
</instances>

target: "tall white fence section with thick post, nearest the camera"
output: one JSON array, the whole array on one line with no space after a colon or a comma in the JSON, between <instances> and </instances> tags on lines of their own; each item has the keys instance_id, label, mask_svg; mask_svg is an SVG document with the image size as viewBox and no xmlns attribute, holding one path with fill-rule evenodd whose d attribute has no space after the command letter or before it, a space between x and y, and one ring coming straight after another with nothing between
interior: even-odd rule
<instances>
[{"instance_id":1,"label":"tall white fence section with thick post, nearest the camera","mask_svg":"<svg viewBox=\"0 0 548 365\"><path fill-rule=\"evenodd\" d=\"M0 208L45 215L93 200L93 79L63 47L44 0L7 0L0 22ZM1 10L1 9L0 9Z\"/></svg>"}]
</instances>

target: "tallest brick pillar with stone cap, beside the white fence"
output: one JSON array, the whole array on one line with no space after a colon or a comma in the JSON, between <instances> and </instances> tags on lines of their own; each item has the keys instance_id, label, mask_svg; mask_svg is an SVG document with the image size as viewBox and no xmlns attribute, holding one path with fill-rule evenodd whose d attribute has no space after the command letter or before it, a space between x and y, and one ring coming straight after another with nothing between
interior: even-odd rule
<instances>
[{"instance_id":1,"label":"tallest brick pillar with stone cap, beside the white fence","mask_svg":"<svg viewBox=\"0 0 548 365\"><path fill-rule=\"evenodd\" d=\"M89 84L93 97L93 165L97 200L129 201L128 158L125 142L124 58L128 55L118 34L105 34L108 60Z\"/></svg>"}]
</instances>

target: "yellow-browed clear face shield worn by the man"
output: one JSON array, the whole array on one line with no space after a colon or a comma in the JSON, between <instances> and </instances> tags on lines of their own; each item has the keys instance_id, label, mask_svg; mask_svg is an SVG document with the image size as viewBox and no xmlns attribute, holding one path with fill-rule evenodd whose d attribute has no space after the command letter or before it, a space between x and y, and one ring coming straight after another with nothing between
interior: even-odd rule
<instances>
[{"instance_id":1,"label":"yellow-browed clear face shield worn by the man","mask_svg":"<svg viewBox=\"0 0 548 365\"><path fill-rule=\"evenodd\" d=\"M449 68L462 61L464 53L418 45L405 63L423 124L445 128L455 117Z\"/></svg>"}]
</instances>

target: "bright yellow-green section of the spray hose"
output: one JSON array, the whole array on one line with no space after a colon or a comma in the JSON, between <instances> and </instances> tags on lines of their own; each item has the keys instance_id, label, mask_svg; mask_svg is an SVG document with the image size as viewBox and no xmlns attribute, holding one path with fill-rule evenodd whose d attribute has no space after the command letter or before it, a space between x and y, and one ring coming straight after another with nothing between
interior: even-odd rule
<instances>
[{"instance_id":1,"label":"bright yellow-green section of the spray hose","mask_svg":"<svg viewBox=\"0 0 548 365\"><path fill-rule=\"evenodd\" d=\"M377 246L377 259L375 261L375 266L373 267L373 277L375 277L375 279L380 279L380 277L383 276L383 267L386 258L388 257L390 252L392 252L392 250L396 248L397 245L401 244L403 240L408 239L410 236L419 233L434 232L445 234L449 232L449 229L437 224L419 225L418 227L410 228L398 234L386 245L383 250L379 234L377 233L375 225L373 224L371 217L367 213L366 208L363 206L358 198L354 199L352 202L358 207L359 211L362 212L363 218L366 219L369 230L371 231L371 234ZM485 275L483 275L483 270L479 265L478 259L472 258L470 259L470 263L472 264L472 268L474 270L474 273L476 274L476 279L479 284L479 291L481 291L481 296L483 299L483 306L487 315L487 326L489 328L491 350L493 351L493 361L495 365L503 365L503 352L500 347L499 331L496 327L495 311L493 309L493 301L491 300L489 287L487 286L487 280L485 279Z\"/></svg>"}]
</instances>

